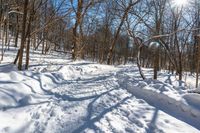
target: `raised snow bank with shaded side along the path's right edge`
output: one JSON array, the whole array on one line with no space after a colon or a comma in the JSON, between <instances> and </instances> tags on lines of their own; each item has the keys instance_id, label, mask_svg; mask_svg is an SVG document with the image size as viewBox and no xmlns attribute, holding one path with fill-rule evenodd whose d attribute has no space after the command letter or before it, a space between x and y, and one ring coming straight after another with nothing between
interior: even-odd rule
<instances>
[{"instance_id":1,"label":"raised snow bank with shaded side along the path's right edge","mask_svg":"<svg viewBox=\"0 0 200 133\"><path fill-rule=\"evenodd\" d=\"M159 110L200 129L200 110L183 102L183 98L185 98L188 104L198 105L197 107L199 107L199 97L197 95L194 97L194 95L189 94L182 97L176 94L176 91L173 88L169 88L169 86L163 88L166 86L165 83L151 79L137 81L134 78L126 77L124 79L119 78L118 81L123 88L126 88L137 98L144 99Z\"/></svg>"}]
</instances>

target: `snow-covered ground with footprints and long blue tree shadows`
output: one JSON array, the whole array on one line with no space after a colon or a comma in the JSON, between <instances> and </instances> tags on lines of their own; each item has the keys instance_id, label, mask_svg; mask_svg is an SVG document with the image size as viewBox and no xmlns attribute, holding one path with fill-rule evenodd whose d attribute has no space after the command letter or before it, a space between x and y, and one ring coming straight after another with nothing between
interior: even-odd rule
<instances>
[{"instance_id":1,"label":"snow-covered ground with footprints and long blue tree shadows","mask_svg":"<svg viewBox=\"0 0 200 133\"><path fill-rule=\"evenodd\" d=\"M15 48L0 64L0 133L199 133L200 95L173 75L135 65L72 62L31 53L17 71ZM191 87L190 87L191 88Z\"/></svg>"}]
</instances>

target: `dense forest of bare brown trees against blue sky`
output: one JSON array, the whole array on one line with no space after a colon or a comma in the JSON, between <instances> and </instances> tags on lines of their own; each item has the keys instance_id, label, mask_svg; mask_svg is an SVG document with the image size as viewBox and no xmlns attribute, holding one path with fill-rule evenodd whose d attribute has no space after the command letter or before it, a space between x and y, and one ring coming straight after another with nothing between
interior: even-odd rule
<instances>
[{"instance_id":1,"label":"dense forest of bare brown trees against blue sky","mask_svg":"<svg viewBox=\"0 0 200 133\"><path fill-rule=\"evenodd\" d=\"M41 48L72 60L135 62L154 68L154 79L161 69L198 77L199 32L199 0L0 0L1 60L13 41L19 70L23 62L28 69L30 49Z\"/></svg>"}]
</instances>

